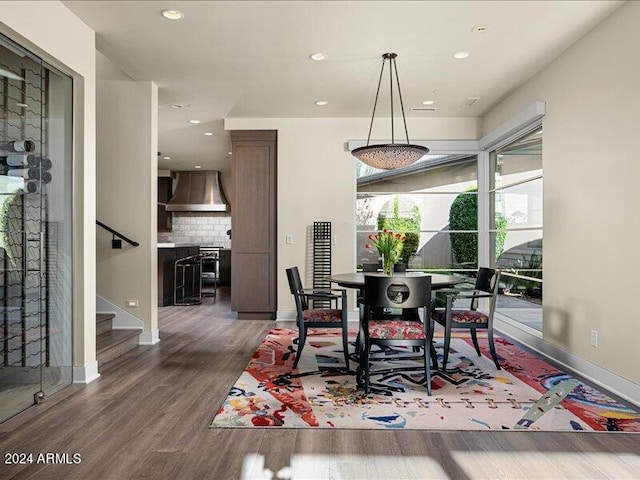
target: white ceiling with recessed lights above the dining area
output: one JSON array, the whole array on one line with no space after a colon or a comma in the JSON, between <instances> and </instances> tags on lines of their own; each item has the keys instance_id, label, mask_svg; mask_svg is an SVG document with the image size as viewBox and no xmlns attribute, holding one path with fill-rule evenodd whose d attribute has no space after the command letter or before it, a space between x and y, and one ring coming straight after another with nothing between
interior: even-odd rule
<instances>
[{"instance_id":1,"label":"white ceiling with recessed lights above the dining area","mask_svg":"<svg viewBox=\"0 0 640 480\"><path fill-rule=\"evenodd\" d=\"M229 170L226 117L370 118L388 51L398 53L407 117L482 116L624 2L63 3L96 31L101 53L131 78L158 84L158 147L171 157L159 157L159 168ZM166 20L162 9L184 19ZM473 33L479 24L487 31ZM461 50L470 56L455 59ZM315 52L329 59L310 60ZM479 100L461 106L467 97ZM436 112L411 110L429 99ZM362 128L364 137L368 122Z\"/></svg>"}]
</instances>

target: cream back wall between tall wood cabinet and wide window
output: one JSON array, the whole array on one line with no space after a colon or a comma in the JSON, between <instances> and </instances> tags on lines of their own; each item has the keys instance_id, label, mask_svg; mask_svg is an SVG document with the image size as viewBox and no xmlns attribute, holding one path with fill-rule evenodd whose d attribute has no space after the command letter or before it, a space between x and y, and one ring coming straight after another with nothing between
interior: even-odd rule
<instances>
[{"instance_id":1,"label":"cream back wall between tall wood cabinet and wide window","mask_svg":"<svg viewBox=\"0 0 640 480\"><path fill-rule=\"evenodd\" d=\"M295 310L286 268L297 265L303 282L311 284L307 234L314 221L332 222L337 239L333 273L355 268L354 157L345 150L345 142L366 138L369 122L367 118L225 120L226 130L278 130L278 311ZM390 134L388 120L376 123L380 126L374 128L373 138ZM409 119L408 129L410 138L421 140L466 140L480 134L475 118ZM287 234L294 236L291 245L285 243Z\"/></svg>"}]
</instances>

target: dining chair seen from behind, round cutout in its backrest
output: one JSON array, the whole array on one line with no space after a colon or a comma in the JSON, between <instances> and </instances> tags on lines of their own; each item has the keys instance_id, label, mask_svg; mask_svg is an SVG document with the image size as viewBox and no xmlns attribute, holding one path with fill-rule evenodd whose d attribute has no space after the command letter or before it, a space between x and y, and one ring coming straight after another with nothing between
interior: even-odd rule
<instances>
[{"instance_id":1,"label":"dining chair seen from behind, round cutout in its backrest","mask_svg":"<svg viewBox=\"0 0 640 480\"><path fill-rule=\"evenodd\" d=\"M374 361L422 358L424 362L424 385L431 395L431 368L429 352L432 334L429 331L431 306L431 277L386 277L366 275L364 277L364 315L360 322L358 352L359 373L363 376L365 394L370 390L371 363ZM416 309L423 311L422 320L402 318L378 318L377 312L384 308ZM371 347L381 347L372 352ZM395 350L387 347L406 347ZM419 347L419 348L414 348ZM422 351L420 351L420 349ZM417 350L417 351L416 351ZM393 367L385 371L406 370Z\"/></svg>"}]
</instances>

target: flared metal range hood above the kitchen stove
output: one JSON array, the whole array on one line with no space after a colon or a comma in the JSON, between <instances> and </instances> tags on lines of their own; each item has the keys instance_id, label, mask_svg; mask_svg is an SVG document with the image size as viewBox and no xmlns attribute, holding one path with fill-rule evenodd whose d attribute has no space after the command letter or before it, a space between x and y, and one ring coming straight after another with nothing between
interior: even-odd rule
<instances>
[{"instance_id":1,"label":"flared metal range hood above the kitchen stove","mask_svg":"<svg viewBox=\"0 0 640 480\"><path fill-rule=\"evenodd\" d=\"M177 172L176 182L175 193L167 203L168 212L229 211L220 172Z\"/></svg>"}]
</instances>

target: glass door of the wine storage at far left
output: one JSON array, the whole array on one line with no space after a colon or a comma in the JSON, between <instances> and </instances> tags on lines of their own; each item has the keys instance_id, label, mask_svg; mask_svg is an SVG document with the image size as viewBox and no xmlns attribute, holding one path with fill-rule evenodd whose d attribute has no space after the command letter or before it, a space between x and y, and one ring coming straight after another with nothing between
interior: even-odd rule
<instances>
[{"instance_id":1,"label":"glass door of the wine storage at far left","mask_svg":"<svg viewBox=\"0 0 640 480\"><path fill-rule=\"evenodd\" d=\"M71 93L0 36L0 421L71 383Z\"/></svg>"}]
</instances>

